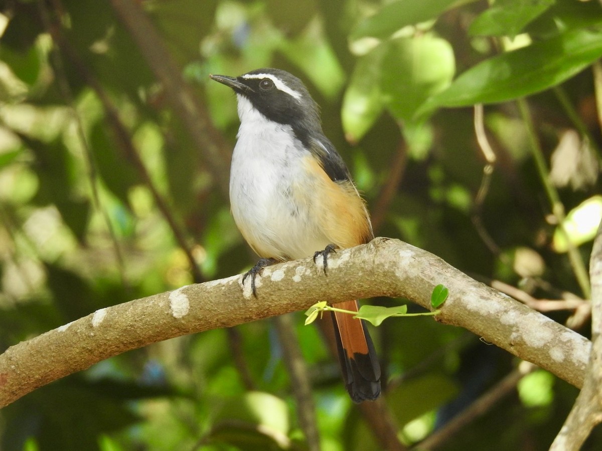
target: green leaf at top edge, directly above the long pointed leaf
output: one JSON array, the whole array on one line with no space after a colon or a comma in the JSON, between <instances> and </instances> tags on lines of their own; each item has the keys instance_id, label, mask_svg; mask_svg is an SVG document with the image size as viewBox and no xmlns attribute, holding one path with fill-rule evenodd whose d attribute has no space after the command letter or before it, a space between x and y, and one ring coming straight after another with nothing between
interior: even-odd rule
<instances>
[{"instance_id":1,"label":"green leaf at top edge, directly above the long pointed leaf","mask_svg":"<svg viewBox=\"0 0 602 451\"><path fill-rule=\"evenodd\" d=\"M498 0L473 20L468 32L471 35L515 37L554 3L554 0Z\"/></svg>"}]
</instances>

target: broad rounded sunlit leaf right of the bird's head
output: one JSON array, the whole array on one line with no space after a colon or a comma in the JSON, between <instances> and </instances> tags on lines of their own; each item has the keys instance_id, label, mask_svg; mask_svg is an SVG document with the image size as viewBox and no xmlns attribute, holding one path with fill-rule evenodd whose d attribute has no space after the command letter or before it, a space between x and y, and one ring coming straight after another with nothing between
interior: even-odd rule
<instances>
[{"instance_id":1,"label":"broad rounded sunlit leaf right of the bird's head","mask_svg":"<svg viewBox=\"0 0 602 451\"><path fill-rule=\"evenodd\" d=\"M424 34L391 40L382 61L383 100L395 117L409 121L424 100L450 85L455 70L445 39Z\"/></svg>"}]
</instances>

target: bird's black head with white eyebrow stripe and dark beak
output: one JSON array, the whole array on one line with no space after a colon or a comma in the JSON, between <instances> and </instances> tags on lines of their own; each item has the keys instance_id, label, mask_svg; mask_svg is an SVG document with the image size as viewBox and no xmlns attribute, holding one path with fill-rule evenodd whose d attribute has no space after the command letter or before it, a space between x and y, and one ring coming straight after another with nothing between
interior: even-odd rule
<instances>
[{"instance_id":1,"label":"bird's black head with white eyebrow stripe and dark beak","mask_svg":"<svg viewBox=\"0 0 602 451\"><path fill-rule=\"evenodd\" d=\"M291 125L293 129L321 131L317 104L303 82L285 70L266 67L236 78L225 75L210 77L249 100L253 108L269 120Z\"/></svg>"}]
</instances>

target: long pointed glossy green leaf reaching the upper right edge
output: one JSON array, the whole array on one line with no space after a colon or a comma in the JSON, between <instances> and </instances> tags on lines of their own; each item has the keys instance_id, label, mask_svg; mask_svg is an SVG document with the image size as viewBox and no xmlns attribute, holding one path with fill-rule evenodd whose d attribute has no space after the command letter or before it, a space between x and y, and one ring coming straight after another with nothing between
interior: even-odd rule
<instances>
[{"instance_id":1,"label":"long pointed glossy green leaf reaching the upper right edge","mask_svg":"<svg viewBox=\"0 0 602 451\"><path fill-rule=\"evenodd\" d=\"M430 97L417 114L440 106L506 102L534 94L571 78L601 55L600 31L569 31L477 64L447 90Z\"/></svg>"}]
</instances>

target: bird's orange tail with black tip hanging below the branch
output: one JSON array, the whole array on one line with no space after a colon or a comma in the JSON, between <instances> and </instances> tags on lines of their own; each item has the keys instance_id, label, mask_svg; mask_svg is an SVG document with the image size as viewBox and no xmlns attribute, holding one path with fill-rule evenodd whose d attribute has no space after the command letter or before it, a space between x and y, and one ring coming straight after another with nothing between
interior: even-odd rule
<instances>
[{"instance_id":1,"label":"bird's orange tail with black tip hanging below the branch","mask_svg":"<svg viewBox=\"0 0 602 451\"><path fill-rule=\"evenodd\" d=\"M357 301L338 302L333 307L358 311ZM374 400L380 394L380 365L364 321L348 313L332 313L341 371L353 402Z\"/></svg>"}]
</instances>

